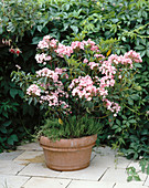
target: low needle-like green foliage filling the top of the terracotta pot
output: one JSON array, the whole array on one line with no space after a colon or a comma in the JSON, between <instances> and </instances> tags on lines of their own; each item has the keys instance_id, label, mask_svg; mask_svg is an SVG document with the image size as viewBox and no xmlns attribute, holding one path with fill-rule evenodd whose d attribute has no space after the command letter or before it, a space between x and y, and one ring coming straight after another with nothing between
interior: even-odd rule
<instances>
[{"instance_id":1,"label":"low needle-like green foliage filling the top of the terracotta pot","mask_svg":"<svg viewBox=\"0 0 149 188\"><path fill-rule=\"evenodd\" d=\"M38 136L44 135L53 140L61 138L79 138L99 134L103 125L99 121L87 115L83 117L70 116L68 121L46 118Z\"/></svg>"}]
</instances>

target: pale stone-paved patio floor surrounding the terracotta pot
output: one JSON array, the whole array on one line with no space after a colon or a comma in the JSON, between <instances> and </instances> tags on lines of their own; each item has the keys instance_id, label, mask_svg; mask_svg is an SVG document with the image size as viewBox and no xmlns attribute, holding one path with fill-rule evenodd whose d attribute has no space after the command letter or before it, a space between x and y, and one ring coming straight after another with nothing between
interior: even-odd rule
<instances>
[{"instance_id":1,"label":"pale stone-paved patio floor surrounding the terracotta pot","mask_svg":"<svg viewBox=\"0 0 149 188\"><path fill-rule=\"evenodd\" d=\"M141 181L127 182L130 166L140 169L109 147L97 147L86 169L55 171L46 168L39 144L31 143L0 154L0 188L149 188L147 174L139 173Z\"/></svg>"}]
</instances>

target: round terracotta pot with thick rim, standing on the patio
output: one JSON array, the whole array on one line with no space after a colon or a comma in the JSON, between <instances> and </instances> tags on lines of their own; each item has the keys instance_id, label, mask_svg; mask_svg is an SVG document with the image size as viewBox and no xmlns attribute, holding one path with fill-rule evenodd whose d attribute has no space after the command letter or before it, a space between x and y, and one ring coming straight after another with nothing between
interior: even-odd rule
<instances>
[{"instance_id":1,"label":"round terracotta pot with thick rim, standing on the patio","mask_svg":"<svg viewBox=\"0 0 149 188\"><path fill-rule=\"evenodd\" d=\"M89 166L92 147L97 135L73 139L60 139L52 142L41 136L40 144L43 147L45 164L49 168L60 171L72 171Z\"/></svg>"}]
</instances>

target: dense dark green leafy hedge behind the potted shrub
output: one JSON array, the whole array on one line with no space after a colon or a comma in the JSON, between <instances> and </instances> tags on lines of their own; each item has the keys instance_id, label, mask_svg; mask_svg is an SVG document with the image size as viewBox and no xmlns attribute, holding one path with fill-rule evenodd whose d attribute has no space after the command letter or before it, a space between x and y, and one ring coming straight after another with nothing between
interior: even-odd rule
<instances>
[{"instance_id":1,"label":"dense dark green leafy hedge behind the potted shrub","mask_svg":"<svg viewBox=\"0 0 149 188\"><path fill-rule=\"evenodd\" d=\"M149 157L149 1L146 0L3 0L0 2L0 39L21 49L0 48L0 149L14 147L34 132L44 112L23 102L23 93L10 79L15 65L34 72L38 42L45 34L63 43L93 39L104 53L123 54L130 49L141 54L136 75L138 86L111 125L105 119L98 143L120 147L128 156ZM113 38L113 40L111 40ZM110 124L109 124L110 122Z\"/></svg>"}]
</instances>

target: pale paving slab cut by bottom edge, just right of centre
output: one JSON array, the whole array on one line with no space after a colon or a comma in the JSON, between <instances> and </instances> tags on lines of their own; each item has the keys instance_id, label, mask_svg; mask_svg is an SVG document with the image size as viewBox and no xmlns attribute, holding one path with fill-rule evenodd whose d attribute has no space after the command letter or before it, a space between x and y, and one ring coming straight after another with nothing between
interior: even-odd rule
<instances>
[{"instance_id":1,"label":"pale paving slab cut by bottom edge, just right of centre","mask_svg":"<svg viewBox=\"0 0 149 188\"><path fill-rule=\"evenodd\" d=\"M72 180L67 188L113 188L115 182Z\"/></svg>"}]
</instances>

